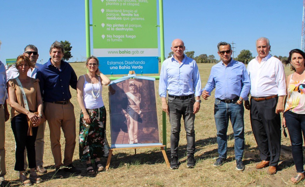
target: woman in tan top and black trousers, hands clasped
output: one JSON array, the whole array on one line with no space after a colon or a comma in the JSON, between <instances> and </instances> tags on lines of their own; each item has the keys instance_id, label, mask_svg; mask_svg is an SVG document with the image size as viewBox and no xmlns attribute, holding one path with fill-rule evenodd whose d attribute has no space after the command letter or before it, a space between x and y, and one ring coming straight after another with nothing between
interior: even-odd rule
<instances>
[{"instance_id":1,"label":"woman in tan top and black trousers, hands clasped","mask_svg":"<svg viewBox=\"0 0 305 187\"><path fill-rule=\"evenodd\" d=\"M8 81L9 102L11 104L11 125L16 141L16 163L15 170L19 171L20 182L24 185L41 182L37 175L35 158L35 140L38 124L42 117L42 99L39 88L39 80L27 76L29 68L34 68L34 63L26 56L17 57L16 68L18 77ZM38 115L34 114L38 111ZM29 135L30 119L33 135ZM36 126L36 127L35 127ZM28 165L30 168L30 178L24 175L24 149L27 148Z\"/></svg>"}]
</instances>

